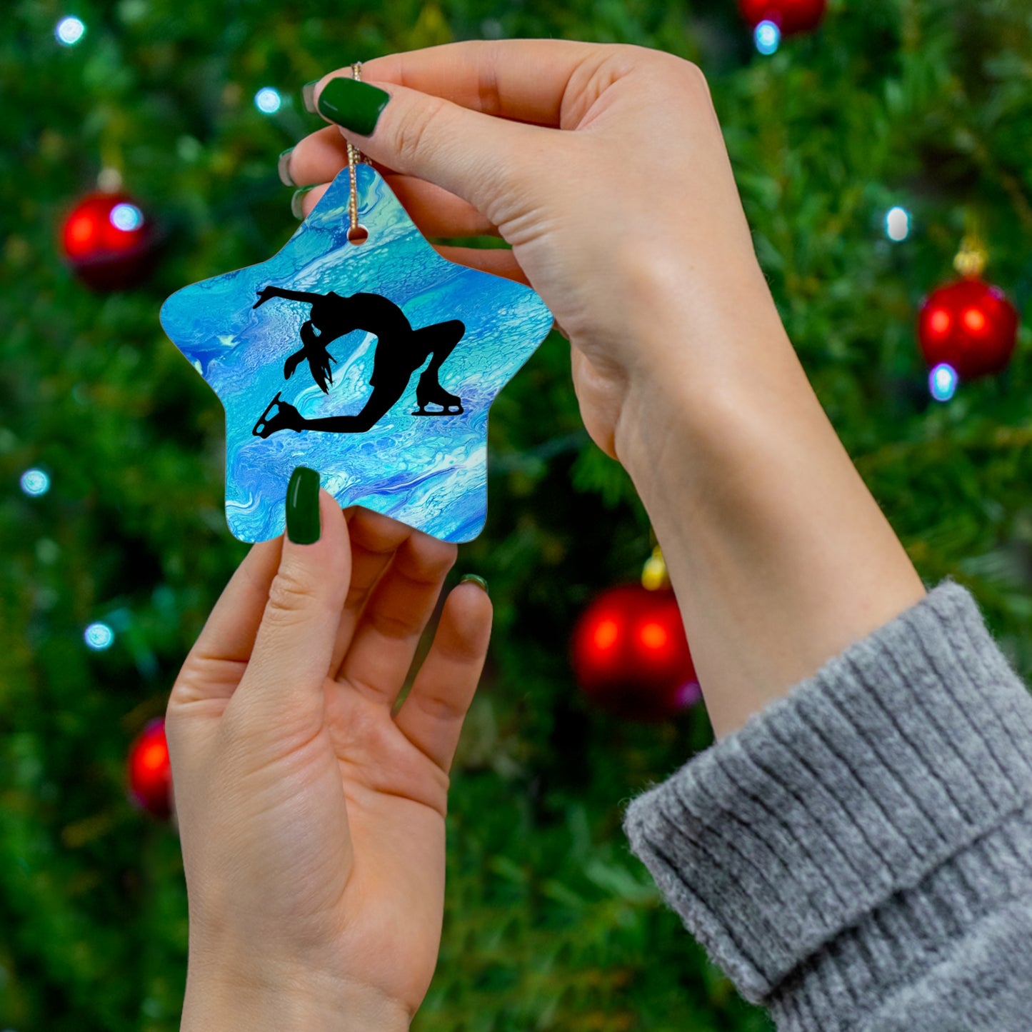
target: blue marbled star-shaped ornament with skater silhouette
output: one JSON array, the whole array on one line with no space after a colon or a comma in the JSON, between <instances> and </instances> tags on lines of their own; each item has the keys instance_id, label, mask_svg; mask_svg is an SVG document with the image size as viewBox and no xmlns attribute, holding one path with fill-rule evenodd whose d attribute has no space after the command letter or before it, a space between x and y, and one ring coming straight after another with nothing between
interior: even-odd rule
<instances>
[{"instance_id":1,"label":"blue marbled star-shaped ornament with skater silhouette","mask_svg":"<svg viewBox=\"0 0 1032 1032\"><path fill-rule=\"evenodd\" d=\"M344 169L268 261L185 287L161 309L172 343L226 410L226 520L240 541L286 524L294 469L342 507L445 541L487 515L487 414L552 315L529 288L447 261L383 178Z\"/></svg>"}]
</instances>

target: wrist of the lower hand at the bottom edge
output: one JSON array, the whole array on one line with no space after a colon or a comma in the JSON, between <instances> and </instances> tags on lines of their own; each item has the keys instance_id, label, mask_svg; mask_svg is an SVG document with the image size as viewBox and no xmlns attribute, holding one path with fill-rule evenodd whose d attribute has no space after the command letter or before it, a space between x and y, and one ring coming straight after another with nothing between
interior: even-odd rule
<instances>
[{"instance_id":1,"label":"wrist of the lower hand at the bottom edge","mask_svg":"<svg viewBox=\"0 0 1032 1032\"><path fill-rule=\"evenodd\" d=\"M188 968L180 1032L408 1032L411 1018L373 987L310 972L256 980Z\"/></svg>"}]
</instances>

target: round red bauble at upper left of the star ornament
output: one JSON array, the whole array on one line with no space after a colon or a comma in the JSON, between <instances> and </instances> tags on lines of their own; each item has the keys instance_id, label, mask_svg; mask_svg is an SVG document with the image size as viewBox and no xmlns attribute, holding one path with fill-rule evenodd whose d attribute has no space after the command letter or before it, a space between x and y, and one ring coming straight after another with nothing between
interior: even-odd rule
<instances>
[{"instance_id":1,"label":"round red bauble at upper left of the star ornament","mask_svg":"<svg viewBox=\"0 0 1032 1032\"><path fill-rule=\"evenodd\" d=\"M142 283L154 267L155 233L143 209L124 193L92 193L61 227L61 250L75 275L94 290Z\"/></svg>"}]
</instances>

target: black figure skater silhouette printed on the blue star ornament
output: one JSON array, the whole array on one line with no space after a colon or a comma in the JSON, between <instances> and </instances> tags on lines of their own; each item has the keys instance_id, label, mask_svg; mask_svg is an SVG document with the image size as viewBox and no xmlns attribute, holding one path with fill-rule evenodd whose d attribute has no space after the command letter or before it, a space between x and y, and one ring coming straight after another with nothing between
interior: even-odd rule
<instances>
[{"instance_id":1,"label":"black figure skater silhouette printed on the blue star ornament","mask_svg":"<svg viewBox=\"0 0 1032 1032\"><path fill-rule=\"evenodd\" d=\"M289 380L303 360L308 360L312 378L323 393L329 393L327 384L333 383L329 363L336 359L327 352L338 336L352 330L363 329L376 333L376 354L373 357L373 375L369 386L373 393L364 408L355 416L328 416L324 419L305 419L292 405L280 400L280 392L266 406L251 431L256 437L267 438L279 430L325 430L328 433L363 433L377 424L380 418L405 393L412 374L433 358L416 384L416 402L419 411L414 416L460 415L462 399L449 394L438 380L441 365L452 353L465 332L465 324L458 319L434 323L422 329L413 329L405 313L380 294L352 294L342 297L328 294L310 294L299 290L281 290L264 287L258 291L254 308L264 304L270 297L311 304L307 322L300 328L301 349L294 352L283 366L284 379ZM441 411L427 412L428 405L441 406ZM276 406L278 411L269 418Z\"/></svg>"}]
</instances>

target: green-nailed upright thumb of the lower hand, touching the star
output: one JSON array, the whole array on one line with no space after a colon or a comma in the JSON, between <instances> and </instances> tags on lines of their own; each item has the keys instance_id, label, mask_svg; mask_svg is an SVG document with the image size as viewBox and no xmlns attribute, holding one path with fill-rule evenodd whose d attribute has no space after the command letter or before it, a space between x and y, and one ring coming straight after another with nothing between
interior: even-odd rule
<instances>
[{"instance_id":1,"label":"green-nailed upright thumb of the lower hand, touching the star","mask_svg":"<svg viewBox=\"0 0 1032 1032\"><path fill-rule=\"evenodd\" d=\"M348 524L319 475L298 466L287 488L287 534L247 670L230 701L260 723L313 734L351 581Z\"/></svg>"}]
</instances>

